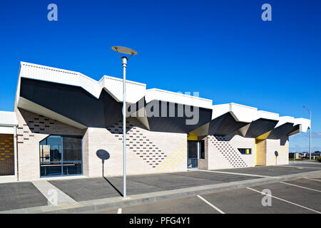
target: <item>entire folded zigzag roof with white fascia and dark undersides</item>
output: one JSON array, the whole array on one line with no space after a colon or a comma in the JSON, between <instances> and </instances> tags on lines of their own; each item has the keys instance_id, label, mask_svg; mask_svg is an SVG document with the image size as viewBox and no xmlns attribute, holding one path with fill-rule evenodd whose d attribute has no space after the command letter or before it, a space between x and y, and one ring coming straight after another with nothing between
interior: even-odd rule
<instances>
[{"instance_id":1,"label":"entire folded zigzag roof with white fascia and dark undersides","mask_svg":"<svg viewBox=\"0 0 321 228\"><path fill-rule=\"evenodd\" d=\"M136 116L148 130L174 133L193 130L196 135L239 134L251 138L268 133L267 138L280 138L310 128L307 119L279 117L277 113L236 103L213 105L213 100L197 95L146 90L146 84L133 81L126 81L126 92L127 103L133 107L129 114ZM77 128L106 128L121 120L122 100L121 78L103 76L95 81L76 71L21 62L14 110L24 108ZM158 115L149 115L153 105L159 106ZM178 113L182 107L198 109L198 123L187 124L191 117L186 115L162 115L169 108Z\"/></svg>"}]
</instances>

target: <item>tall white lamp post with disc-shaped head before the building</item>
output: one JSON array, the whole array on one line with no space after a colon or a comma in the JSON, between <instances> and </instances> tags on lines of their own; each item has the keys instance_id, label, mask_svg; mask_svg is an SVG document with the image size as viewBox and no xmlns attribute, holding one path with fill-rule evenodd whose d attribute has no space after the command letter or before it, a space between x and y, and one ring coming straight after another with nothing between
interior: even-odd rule
<instances>
[{"instance_id":1,"label":"tall white lamp post with disc-shaped head before the building","mask_svg":"<svg viewBox=\"0 0 321 228\"><path fill-rule=\"evenodd\" d=\"M121 46L113 46L111 49L118 53L123 63L123 199L128 199L126 196L126 67L128 59L138 53L131 48ZM127 58L126 56L121 56L120 53L130 56Z\"/></svg>"}]
</instances>

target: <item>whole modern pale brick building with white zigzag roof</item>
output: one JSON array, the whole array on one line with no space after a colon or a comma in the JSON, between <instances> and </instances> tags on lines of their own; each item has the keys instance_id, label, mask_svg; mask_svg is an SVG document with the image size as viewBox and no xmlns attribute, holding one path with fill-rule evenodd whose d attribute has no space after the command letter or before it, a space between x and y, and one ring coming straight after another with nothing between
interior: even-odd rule
<instances>
[{"instance_id":1,"label":"whole modern pale brick building with white zigzag roof","mask_svg":"<svg viewBox=\"0 0 321 228\"><path fill-rule=\"evenodd\" d=\"M289 136L310 128L245 105L133 81L126 88L129 175L285 165ZM0 112L0 175L122 175L122 100L120 78L21 62L14 111Z\"/></svg>"}]
</instances>

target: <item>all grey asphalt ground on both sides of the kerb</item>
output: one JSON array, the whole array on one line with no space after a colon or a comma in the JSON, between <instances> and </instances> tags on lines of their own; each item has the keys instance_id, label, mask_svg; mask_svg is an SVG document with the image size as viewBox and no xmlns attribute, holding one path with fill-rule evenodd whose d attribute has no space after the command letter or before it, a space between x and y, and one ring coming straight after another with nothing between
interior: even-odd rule
<instances>
[{"instance_id":1,"label":"all grey asphalt ground on both sides of the kerb","mask_svg":"<svg viewBox=\"0 0 321 228\"><path fill-rule=\"evenodd\" d=\"M319 163L300 163L280 166L246 167L230 170L195 170L155 175L129 175L127 193L149 194L223 183L233 186L245 182L260 182L260 186L196 195L185 199L171 199L154 204L121 208L123 213L317 213L321 211L321 178L304 178L277 182L284 175L320 171ZM317 172L320 174L320 172ZM267 178L264 178L267 177ZM277 178L275 178L277 177ZM301 175L300 175L301 177ZM299 178L299 177L297 177ZM262 181L261 181L262 180ZM273 180L270 183L267 180ZM62 195L76 202L120 198L122 177L76 178L68 180L42 180L61 191ZM265 183L270 183L264 185ZM251 185L253 186L253 185ZM240 186L241 187L241 186ZM235 187L234 187L235 189ZM261 191L270 190L272 204L263 206ZM45 192L45 193L44 193ZM44 195L43 195L44 194ZM40 190L35 182L0 184L0 212L48 205L46 190ZM64 197L64 196L63 196ZM96 202L99 203L99 202ZM101 211L97 211L101 212ZM105 211L116 213L118 209Z\"/></svg>"}]
</instances>

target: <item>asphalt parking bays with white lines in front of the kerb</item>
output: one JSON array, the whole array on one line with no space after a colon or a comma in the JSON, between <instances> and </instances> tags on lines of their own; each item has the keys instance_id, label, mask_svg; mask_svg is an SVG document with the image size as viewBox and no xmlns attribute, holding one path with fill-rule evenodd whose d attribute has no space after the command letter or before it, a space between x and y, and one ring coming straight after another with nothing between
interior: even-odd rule
<instances>
[{"instance_id":1,"label":"asphalt parking bays with white lines in front of the kerb","mask_svg":"<svg viewBox=\"0 0 321 228\"><path fill-rule=\"evenodd\" d=\"M185 199L112 209L123 214L315 214L321 213L321 180L299 179ZM265 192L263 194L262 192ZM267 191L270 191L270 195ZM263 197L265 197L263 199ZM270 197L270 204L267 198ZM265 202L265 203L264 203Z\"/></svg>"}]
</instances>

